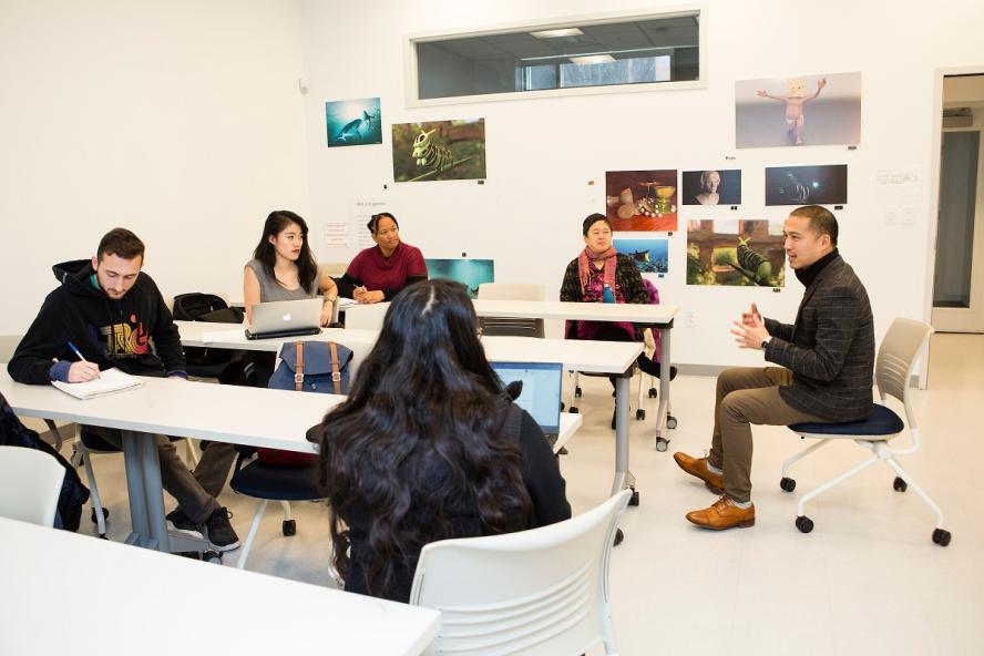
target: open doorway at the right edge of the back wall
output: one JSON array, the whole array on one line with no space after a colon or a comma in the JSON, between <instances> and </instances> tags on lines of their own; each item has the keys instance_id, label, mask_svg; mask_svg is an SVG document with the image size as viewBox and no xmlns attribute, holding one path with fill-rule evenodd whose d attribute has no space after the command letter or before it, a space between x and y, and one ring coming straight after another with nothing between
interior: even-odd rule
<instances>
[{"instance_id":1,"label":"open doorway at the right edge of the back wall","mask_svg":"<svg viewBox=\"0 0 984 656\"><path fill-rule=\"evenodd\" d=\"M932 324L984 332L984 70L944 74Z\"/></svg>"}]
</instances>

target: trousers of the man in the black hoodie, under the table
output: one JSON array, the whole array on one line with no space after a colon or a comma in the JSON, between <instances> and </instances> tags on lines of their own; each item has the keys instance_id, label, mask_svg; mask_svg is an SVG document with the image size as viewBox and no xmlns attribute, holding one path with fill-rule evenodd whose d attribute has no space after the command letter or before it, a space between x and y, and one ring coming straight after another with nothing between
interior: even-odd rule
<instances>
[{"instance_id":1,"label":"trousers of the man in the black hoodie, under the table","mask_svg":"<svg viewBox=\"0 0 984 656\"><path fill-rule=\"evenodd\" d=\"M106 442L123 448L123 435L113 428L98 426L83 427ZM225 485L229 468L236 458L233 444L212 442L202 453L202 460L194 473L178 457L177 450L167 435L154 435L157 440L157 457L161 459L161 482L168 494L177 500L177 505L196 524L204 522L213 512L222 508L215 499Z\"/></svg>"}]
</instances>

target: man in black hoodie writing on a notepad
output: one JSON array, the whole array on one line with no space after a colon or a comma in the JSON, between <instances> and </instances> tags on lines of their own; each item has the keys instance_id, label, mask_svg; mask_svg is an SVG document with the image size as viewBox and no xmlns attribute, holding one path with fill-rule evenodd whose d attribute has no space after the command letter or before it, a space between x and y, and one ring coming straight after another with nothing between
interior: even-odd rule
<instances>
[{"instance_id":1,"label":"man in black hoodie writing on a notepad","mask_svg":"<svg viewBox=\"0 0 984 656\"><path fill-rule=\"evenodd\" d=\"M44 299L7 365L11 378L30 385L82 382L115 367L135 376L187 379L177 327L154 280L141 273L143 258L143 242L115 228L100 240L91 262L55 265L61 286ZM124 396L120 402L126 402ZM116 429L84 428L122 445ZM192 473L170 439L156 440L164 489L178 503L167 514L172 527L197 536L204 531L218 551L238 547L232 514L216 500L236 454L233 445L211 444Z\"/></svg>"}]
</instances>

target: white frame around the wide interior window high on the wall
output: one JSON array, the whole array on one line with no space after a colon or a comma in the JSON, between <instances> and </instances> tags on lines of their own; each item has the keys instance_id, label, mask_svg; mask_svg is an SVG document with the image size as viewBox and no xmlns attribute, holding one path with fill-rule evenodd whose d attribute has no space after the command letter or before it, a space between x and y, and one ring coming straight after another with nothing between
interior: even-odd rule
<instances>
[{"instance_id":1,"label":"white frame around the wide interior window high on the wall","mask_svg":"<svg viewBox=\"0 0 984 656\"><path fill-rule=\"evenodd\" d=\"M635 84L606 84L598 86L574 86L565 89L542 89L535 91L511 91L505 93L480 93L473 95L454 95L449 98L421 99L418 84L417 44L449 39L491 37L511 32L535 32L558 28L597 25L616 22L670 19L697 16L697 79L677 82L645 82ZM681 91L707 89L708 54L707 54L708 8L705 3L679 4L664 11L617 11L575 17L561 17L550 20L532 20L499 24L490 28L471 30L440 30L417 32L403 37L403 94L407 107L430 107L481 102L499 102L510 100L536 100L543 98L564 98L572 95L598 95L608 93L640 93L649 91Z\"/></svg>"}]
</instances>

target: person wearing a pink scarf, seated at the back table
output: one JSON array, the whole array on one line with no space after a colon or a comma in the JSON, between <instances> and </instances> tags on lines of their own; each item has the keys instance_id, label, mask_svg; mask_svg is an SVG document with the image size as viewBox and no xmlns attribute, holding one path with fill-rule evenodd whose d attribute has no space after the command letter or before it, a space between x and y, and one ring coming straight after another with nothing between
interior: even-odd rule
<instances>
[{"instance_id":1,"label":"person wearing a pink scarf, seated at the back table","mask_svg":"<svg viewBox=\"0 0 984 656\"><path fill-rule=\"evenodd\" d=\"M592 214L582 224L584 250L571 260L561 284L561 300L575 303L649 303L643 276L632 258L612 246L612 224L604 214ZM568 321L567 339L642 341L640 327L627 321ZM659 377L659 362L640 353L636 362L646 373ZM615 377L609 377L615 386ZM615 418L612 418L615 428Z\"/></svg>"}]
</instances>

